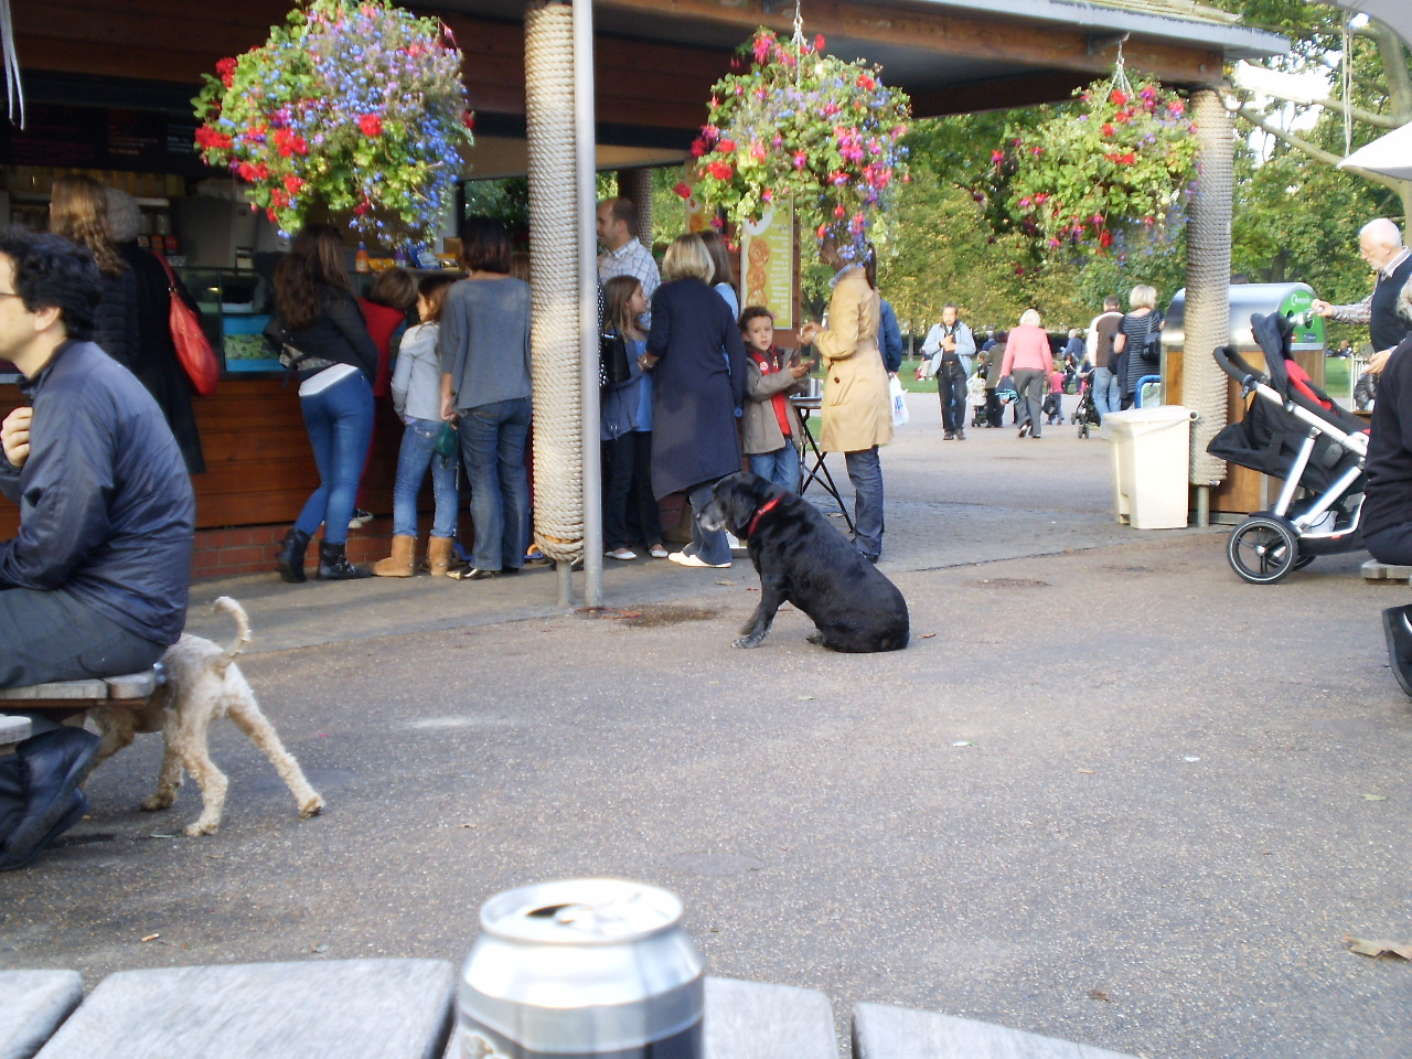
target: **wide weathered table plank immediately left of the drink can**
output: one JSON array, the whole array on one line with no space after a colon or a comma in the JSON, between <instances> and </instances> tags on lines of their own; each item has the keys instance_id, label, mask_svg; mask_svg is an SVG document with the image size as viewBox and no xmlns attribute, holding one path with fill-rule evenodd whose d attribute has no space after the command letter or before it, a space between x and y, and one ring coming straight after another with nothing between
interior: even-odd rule
<instances>
[{"instance_id":1,"label":"wide weathered table plank immediately left of the drink can","mask_svg":"<svg viewBox=\"0 0 1412 1059\"><path fill-rule=\"evenodd\" d=\"M443 960L330 960L120 971L40 1059L431 1059L450 1029Z\"/></svg>"}]
</instances>

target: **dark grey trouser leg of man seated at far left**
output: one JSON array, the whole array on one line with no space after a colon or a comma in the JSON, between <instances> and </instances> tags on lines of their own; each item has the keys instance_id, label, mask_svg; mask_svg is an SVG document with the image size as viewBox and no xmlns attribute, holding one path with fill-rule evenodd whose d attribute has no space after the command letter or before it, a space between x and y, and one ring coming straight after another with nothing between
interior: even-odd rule
<instances>
[{"instance_id":1,"label":"dark grey trouser leg of man seated at far left","mask_svg":"<svg viewBox=\"0 0 1412 1059\"><path fill-rule=\"evenodd\" d=\"M0 688L134 674L165 650L64 589L0 590Z\"/></svg>"}]
</instances>

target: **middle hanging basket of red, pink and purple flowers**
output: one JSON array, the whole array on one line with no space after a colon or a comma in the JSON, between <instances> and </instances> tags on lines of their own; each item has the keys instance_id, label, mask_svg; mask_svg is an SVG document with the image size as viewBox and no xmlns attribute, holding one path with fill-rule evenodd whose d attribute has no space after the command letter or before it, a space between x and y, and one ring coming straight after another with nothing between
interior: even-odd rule
<instances>
[{"instance_id":1,"label":"middle hanging basket of red, pink and purple flowers","mask_svg":"<svg viewBox=\"0 0 1412 1059\"><path fill-rule=\"evenodd\" d=\"M907 93L885 88L875 66L827 55L823 37L781 41L761 28L741 52L750 71L716 82L692 145L695 193L736 223L792 196L815 234L832 234L851 260L892 186L908 179Z\"/></svg>"}]
</instances>

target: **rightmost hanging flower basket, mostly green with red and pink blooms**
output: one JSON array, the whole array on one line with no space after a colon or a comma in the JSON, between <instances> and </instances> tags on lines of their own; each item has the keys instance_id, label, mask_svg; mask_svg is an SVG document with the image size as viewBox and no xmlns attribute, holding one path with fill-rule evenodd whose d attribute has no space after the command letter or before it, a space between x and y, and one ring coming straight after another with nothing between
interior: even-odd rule
<instances>
[{"instance_id":1,"label":"rightmost hanging flower basket, mostly green with red and pink blooms","mask_svg":"<svg viewBox=\"0 0 1412 1059\"><path fill-rule=\"evenodd\" d=\"M1075 92L1077 106L1012 131L993 152L1018 227L1049 251L1107 253L1117 232L1162 226L1196 174L1186 104L1154 80Z\"/></svg>"}]
</instances>

